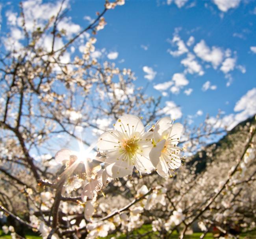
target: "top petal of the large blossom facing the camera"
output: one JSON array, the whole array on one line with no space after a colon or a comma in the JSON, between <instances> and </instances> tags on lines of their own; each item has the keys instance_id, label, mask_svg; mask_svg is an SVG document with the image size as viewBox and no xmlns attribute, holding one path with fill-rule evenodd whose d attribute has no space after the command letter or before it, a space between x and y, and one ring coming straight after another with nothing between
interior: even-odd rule
<instances>
[{"instance_id":1,"label":"top petal of the large blossom facing the camera","mask_svg":"<svg viewBox=\"0 0 256 239\"><path fill-rule=\"evenodd\" d=\"M115 123L115 130L127 133L130 137L133 132L144 133L145 127L139 117L135 115L122 115Z\"/></svg>"}]
</instances>

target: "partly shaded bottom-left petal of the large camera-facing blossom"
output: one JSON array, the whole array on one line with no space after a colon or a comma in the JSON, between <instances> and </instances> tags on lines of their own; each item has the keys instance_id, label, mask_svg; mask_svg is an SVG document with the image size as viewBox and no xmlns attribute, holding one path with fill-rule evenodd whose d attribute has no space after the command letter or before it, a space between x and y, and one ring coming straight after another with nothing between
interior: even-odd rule
<instances>
[{"instance_id":1,"label":"partly shaded bottom-left petal of the large camera-facing blossom","mask_svg":"<svg viewBox=\"0 0 256 239\"><path fill-rule=\"evenodd\" d=\"M128 160L117 160L106 166L106 171L110 177L120 178L132 174L133 165Z\"/></svg>"}]
</instances>

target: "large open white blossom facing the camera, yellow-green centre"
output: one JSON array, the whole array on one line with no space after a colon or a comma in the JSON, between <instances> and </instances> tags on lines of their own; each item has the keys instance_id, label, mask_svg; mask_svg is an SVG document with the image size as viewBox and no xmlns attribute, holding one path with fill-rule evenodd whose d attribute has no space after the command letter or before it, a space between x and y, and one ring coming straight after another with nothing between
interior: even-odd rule
<instances>
[{"instance_id":1,"label":"large open white blossom facing the camera, yellow-green centre","mask_svg":"<svg viewBox=\"0 0 256 239\"><path fill-rule=\"evenodd\" d=\"M97 143L100 153L106 156L108 175L131 175L134 166L140 173L150 173L154 168L149 159L153 133L146 133L143 123L134 115L123 115L114 127L103 133Z\"/></svg>"}]
</instances>

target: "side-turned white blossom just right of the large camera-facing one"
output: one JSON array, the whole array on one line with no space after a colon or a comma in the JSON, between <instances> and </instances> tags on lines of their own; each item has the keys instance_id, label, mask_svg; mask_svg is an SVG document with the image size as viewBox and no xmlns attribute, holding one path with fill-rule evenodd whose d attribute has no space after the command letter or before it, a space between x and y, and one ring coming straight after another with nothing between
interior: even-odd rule
<instances>
[{"instance_id":1,"label":"side-turned white blossom just right of the large camera-facing one","mask_svg":"<svg viewBox=\"0 0 256 239\"><path fill-rule=\"evenodd\" d=\"M171 170L181 166L180 148L177 147L183 126L173 124L169 117L164 117L154 127L153 145L149 157L161 177L171 176Z\"/></svg>"}]
</instances>

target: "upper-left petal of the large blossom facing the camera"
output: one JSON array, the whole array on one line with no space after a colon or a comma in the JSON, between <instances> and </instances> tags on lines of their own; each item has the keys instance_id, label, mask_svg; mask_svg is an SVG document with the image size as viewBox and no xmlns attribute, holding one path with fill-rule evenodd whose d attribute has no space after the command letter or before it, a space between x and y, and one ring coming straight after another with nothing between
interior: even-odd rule
<instances>
[{"instance_id":1,"label":"upper-left petal of the large blossom facing the camera","mask_svg":"<svg viewBox=\"0 0 256 239\"><path fill-rule=\"evenodd\" d=\"M119 132L116 130L109 130L100 135L97 147L101 152L113 150L119 147Z\"/></svg>"}]
</instances>

